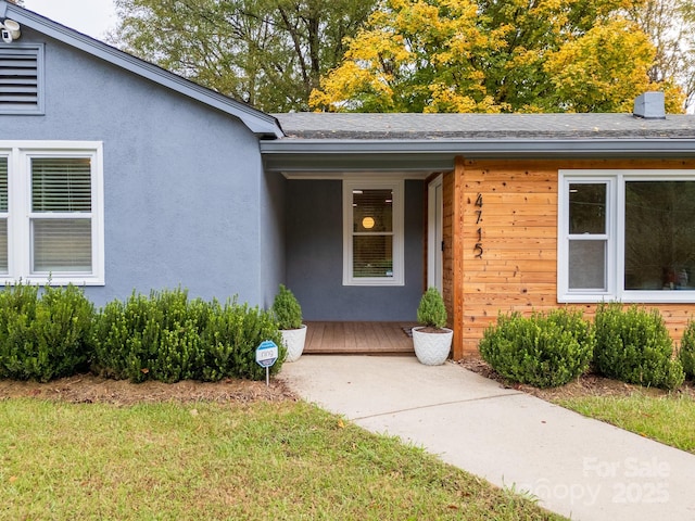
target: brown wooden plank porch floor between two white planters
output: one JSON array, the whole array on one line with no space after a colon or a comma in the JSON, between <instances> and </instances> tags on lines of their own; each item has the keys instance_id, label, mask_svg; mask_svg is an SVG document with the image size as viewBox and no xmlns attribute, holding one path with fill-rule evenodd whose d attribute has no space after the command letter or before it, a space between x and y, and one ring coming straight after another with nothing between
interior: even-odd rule
<instances>
[{"instance_id":1,"label":"brown wooden plank porch floor between two white planters","mask_svg":"<svg viewBox=\"0 0 695 521\"><path fill-rule=\"evenodd\" d=\"M415 322L306 322L304 353L415 354Z\"/></svg>"}]
</instances>

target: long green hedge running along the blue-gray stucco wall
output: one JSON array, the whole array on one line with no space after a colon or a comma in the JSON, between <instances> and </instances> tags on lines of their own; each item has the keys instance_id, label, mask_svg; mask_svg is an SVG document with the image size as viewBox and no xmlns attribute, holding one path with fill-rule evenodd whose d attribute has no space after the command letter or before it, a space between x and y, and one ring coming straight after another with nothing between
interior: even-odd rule
<instances>
[{"instance_id":1,"label":"long green hedge running along the blue-gray stucco wall","mask_svg":"<svg viewBox=\"0 0 695 521\"><path fill-rule=\"evenodd\" d=\"M0 378L47 382L91 369L134 382L262 380L266 340L287 348L273 315L236 300L189 300L181 289L132 295L99 312L74 285L17 283L0 292Z\"/></svg>"}]
</instances>

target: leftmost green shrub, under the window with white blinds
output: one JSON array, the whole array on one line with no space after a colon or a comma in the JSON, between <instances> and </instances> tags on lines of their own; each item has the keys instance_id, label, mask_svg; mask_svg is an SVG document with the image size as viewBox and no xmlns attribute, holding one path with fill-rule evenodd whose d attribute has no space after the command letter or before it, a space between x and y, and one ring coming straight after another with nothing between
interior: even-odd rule
<instances>
[{"instance_id":1,"label":"leftmost green shrub, under the window with white blinds","mask_svg":"<svg viewBox=\"0 0 695 521\"><path fill-rule=\"evenodd\" d=\"M47 382L86 370L93 319L93 305L74 285L7 285L0 292L0 378Z\"/></svg>"}]
</instances>

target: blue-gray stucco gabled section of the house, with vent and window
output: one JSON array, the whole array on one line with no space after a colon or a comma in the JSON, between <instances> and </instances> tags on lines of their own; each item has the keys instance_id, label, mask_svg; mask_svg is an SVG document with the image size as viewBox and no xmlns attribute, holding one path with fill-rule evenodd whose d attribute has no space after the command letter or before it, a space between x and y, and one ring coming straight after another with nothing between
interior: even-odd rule
<instances>
[{"instance_id":1,"label":"blue-gray stucco gabled section of the house, with vent and window","mask_svg":"<svg viewBox=\"0 0 695 521\"><path fill-rule=\"evenodd\" d=\"M0 42L3 278L50 275L99 304L179 284L267 302L285 277L282 179L258 140L281 136L276 119L4 1L0 18L22 27ZM51 160L87 168L54 207L35 201Z\"/></svg>"}]
</instances>

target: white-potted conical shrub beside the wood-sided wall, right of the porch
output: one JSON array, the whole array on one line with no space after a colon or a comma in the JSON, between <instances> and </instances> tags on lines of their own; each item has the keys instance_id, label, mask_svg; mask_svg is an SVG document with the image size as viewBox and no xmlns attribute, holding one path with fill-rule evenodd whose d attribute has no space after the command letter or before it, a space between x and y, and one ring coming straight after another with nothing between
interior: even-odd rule
<instances>
[{"instance_id":1,"label":"white-potted conical shrub beside the wood-sided wall, right of the porch","mask_svg":"<svg viewBox=\"0 0 695 521\"><path fill-rule=\"evenodd\" d=\"M454 331L446 326L446 307L437 288L428 288L417 308L417 321L422 326L413 328L415 356L426 366L439 366L446 361Z\"/></svg>"}]
</instances>

